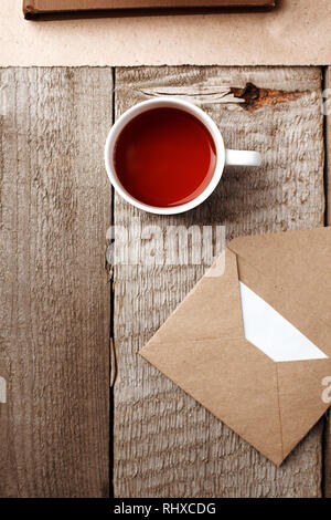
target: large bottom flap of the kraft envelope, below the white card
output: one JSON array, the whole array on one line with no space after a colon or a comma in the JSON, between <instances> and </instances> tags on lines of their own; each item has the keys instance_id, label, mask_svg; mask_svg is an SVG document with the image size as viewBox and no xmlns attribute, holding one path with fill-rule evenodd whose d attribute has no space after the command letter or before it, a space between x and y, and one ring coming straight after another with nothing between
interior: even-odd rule
<instances>
[{"instance_id":1,"label":"large bottom flap of the kraft envelope, below the white card","mask_svg":"<svg viewBox=\"0 0 331 520\"><path fill-rule=\"evenodd\" d=\"M266 457L282 461L276 364L246 340L154 336L139 353Z\"/></svg>"}]
</instances>

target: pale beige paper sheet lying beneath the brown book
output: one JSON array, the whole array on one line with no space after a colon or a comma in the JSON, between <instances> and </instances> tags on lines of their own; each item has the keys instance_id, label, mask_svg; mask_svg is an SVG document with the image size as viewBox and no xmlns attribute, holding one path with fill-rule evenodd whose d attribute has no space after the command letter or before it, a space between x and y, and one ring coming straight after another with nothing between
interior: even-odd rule
<instances>
[{"instance_id":1,"label":"pale beige paper sheet lying beneath the brown book","mask_svg":"<svg viewBox=\"0 0 331 520\"><path fill-rule=\"evenodd\" d=\"M330 0L269 12L26 21L0 2L0 65L331 64Z\"/></svg>"}]
</instances>

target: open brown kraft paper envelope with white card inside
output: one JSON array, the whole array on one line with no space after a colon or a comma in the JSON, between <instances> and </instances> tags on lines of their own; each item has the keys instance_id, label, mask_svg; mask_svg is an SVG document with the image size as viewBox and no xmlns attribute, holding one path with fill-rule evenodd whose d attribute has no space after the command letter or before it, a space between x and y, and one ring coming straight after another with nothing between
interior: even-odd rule
<instances>
[{"instance_id":1,"label":"open brown kraft paper envelope with white card inside","mask_svg":"<svg viewBox=\"0 0 331 520\"><path fill-rule=\"evenodd\" d=\"M233 240L140 354L280 465L330 406L331 227Z\"/></svg>"}]
</instances>

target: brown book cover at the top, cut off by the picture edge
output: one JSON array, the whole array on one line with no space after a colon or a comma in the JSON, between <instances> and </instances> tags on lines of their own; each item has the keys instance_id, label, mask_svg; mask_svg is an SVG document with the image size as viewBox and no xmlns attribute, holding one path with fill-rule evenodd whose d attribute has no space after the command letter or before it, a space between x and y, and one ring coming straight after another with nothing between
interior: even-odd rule
<instances>
[{"instance_id":1,"label":"brown book cover at the top, cut off by the picture edge","mask_svg":"<svg viewBox=\"0 0 331 520\"><path fill-rule=\"evenodd\" d=\"M25 18L39 14L121 9L273 8L275 0L24 0Z\"/></svg>"}]
</instances>

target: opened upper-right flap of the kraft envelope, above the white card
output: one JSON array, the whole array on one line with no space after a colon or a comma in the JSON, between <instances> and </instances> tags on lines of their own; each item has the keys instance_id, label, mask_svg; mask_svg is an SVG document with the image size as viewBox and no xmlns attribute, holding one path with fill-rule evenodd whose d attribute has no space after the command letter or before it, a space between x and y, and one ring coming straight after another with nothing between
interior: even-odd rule
<instances>
[{"instance_id":1,"label":"opened upper-right flap of the kraft envelope, above the white card","mask_svg":"<svg viewBox=\"0 0 331 520\"><path fill-rule=\"evenodd\" d=\"M331 326L331 227L242 237L228 249Z\"/></svg>"}]
</instances>

